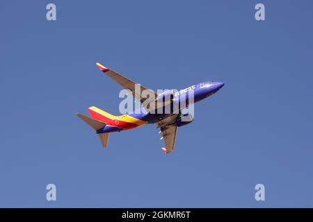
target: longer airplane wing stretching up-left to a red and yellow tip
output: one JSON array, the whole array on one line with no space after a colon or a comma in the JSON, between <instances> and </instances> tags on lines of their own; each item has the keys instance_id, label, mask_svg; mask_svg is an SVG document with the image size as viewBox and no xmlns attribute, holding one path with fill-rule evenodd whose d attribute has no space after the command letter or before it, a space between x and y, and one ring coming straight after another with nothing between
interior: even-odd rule
<instances>
[{"instance_id":1,"label":"longer airplane wing stretching up-left to a red and yellow tip","mask_svg":"<svg viewBox=\"0 0 313 222\"><path fill-rule=\"evenodd\" d=\"M130 80L129 78L126 78L125 76L122 76L121 74L118 74L117 72L104 67L99 62L97 63L97 67L99 67L99 69L103 71L105 74L107 74L110 78L115 80L115 82L122 85L122 87L124 87L125 89L129 89L131 93L134 96L136 96L136 98L141 99L141 103L149 99L149 98L141 98L141 92L143 92L143 90L148 90L149 94L151 95L154 94L154 99L157 99L157 94L152 89L147 89L146 87L143 87L141 85L141 90L140 90L141 92L136 92L135 85L138 85L138 83L135 83L133 80Z\"/></svg>"}]
</instances>

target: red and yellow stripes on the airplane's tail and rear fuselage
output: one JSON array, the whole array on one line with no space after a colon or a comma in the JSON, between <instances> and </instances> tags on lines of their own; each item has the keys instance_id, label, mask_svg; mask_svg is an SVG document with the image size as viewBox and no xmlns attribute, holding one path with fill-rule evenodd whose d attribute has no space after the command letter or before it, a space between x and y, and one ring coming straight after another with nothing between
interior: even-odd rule
<instances>
[{"instance_id":1,"label":"red and yellow stripes on the airplane's tail and rear fuselage","mask_svg":"<svg viewBox=\"0 0 313 222\"><path fill-rule=\"evenodd\" d=\"M117 126L125 130L145 125L145 121L142 121L141 119L136 119L129 115L114 116L109 114L109 112L96 108L95 106L88 108L88 111L93 119L97 119L107 125Z\"/></svg>"}]
</instances>

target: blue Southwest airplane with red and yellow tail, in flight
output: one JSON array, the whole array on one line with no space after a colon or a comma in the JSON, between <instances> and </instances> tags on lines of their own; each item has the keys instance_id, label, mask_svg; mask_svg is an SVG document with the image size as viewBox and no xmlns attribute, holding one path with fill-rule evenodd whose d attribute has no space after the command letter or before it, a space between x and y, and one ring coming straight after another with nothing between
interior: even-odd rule
<instances>
[{"instance_id":1,"label":"blue Southwest airplane with red and yellow tail, in flight","mask_svg":"<svg viewBox=\"0 0 313 222\"><path fill-rule=\"evenodd\" d=\"M147 98L141 98L141 94L138 93L138 90L136 90L136 85L138 83L135 83L133 80L118 74L112 69L104 67L99 62L97 62L96 65L104 74L115 80L125 89L129 89L131 94L133 94L137 99L140 99L141 103L147 103ZM152 105L151 108L147 108L148 106L144 108L141 107L141 112L132 112L115 116L92 106L88 108L88 112L91 117L81 113L77 113L77 116L96 131L104 148L106 148L108 144L110 133L130 130L149 123L155 123L157 124L157 128L160 128L159 133L162 135L161 139L165 142L165 146L162 147L162 150L164 153L170 153L174 151L175 148L177 128L185 126L193 121L192 114L184 114L183 112L184 109L186 110L186 108L190 105L189 101L191 101L191 99L189 99L189 95L193 93L192 102L196 103L215 94L223 86L224 83L209 81L192 85L191 87L187 87L186 89L182 89L178 92L175 92L172 89L166 90L162 94L157 94L153 92L152 89L148 89L140 85L141 91L146 90L155 96L152 98L152 101L149 102L150 104L161 101L163 105L161 105L161 109L164 110L166 105L170 105L170 112L157 112L156 108L159 107ZM170 102L164 103L164 98L168 94L170 94ZM174 105L172 105L173 101L184 101L184 103L182 103L183 105L179 103L178 108L176 106L176 109L174 110Z\"/></svg>"}]
</instances>

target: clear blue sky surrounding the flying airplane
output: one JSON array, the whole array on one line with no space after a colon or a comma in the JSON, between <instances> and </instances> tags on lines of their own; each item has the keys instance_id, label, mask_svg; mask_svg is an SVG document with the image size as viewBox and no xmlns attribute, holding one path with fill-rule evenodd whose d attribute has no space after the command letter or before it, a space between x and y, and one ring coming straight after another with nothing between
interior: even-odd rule
<instances>
[{"instance_id":1,"label":"clear blue sky surrounding the flying airplane","mask_svg":"<svg viewBox=\"0 0 313 222\"><path fill-rule=\"evenodd\" d=\"M46 20L50 2L55 22ZM0 207L313 207L312 9L1 1ZM91 105L118 114L121 87L95 62L154 90L225 87L195 105L174 153L163 154L154 125L112 133L103 150L75 115Z\"/></svg>"}]
</instances>

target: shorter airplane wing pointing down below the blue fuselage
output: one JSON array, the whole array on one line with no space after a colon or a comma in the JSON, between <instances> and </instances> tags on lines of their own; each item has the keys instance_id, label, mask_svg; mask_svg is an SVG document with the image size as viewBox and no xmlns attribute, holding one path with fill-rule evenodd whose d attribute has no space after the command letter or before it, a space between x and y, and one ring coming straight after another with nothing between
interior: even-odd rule
<instances>
[{"instance_id":1,"label":"shorter airplane wing pointing down below the blue fuselage","mask_svg":"<svg viewBox=\"0 0 313 222\"><path fill-rule=\"evenodd\" d=\"M165 147L162 147L164 153L170 153L175 148L176 135L177 135L177 125L175 123L178 114L175 114L171 117L163 119L162 121L157 122L157 125L161 128L159 133L162 133L161 139L164 139L166 144Z\"/></svg>"}]
</instances>

